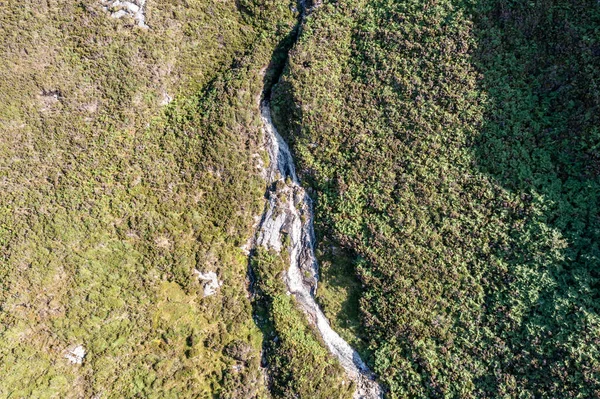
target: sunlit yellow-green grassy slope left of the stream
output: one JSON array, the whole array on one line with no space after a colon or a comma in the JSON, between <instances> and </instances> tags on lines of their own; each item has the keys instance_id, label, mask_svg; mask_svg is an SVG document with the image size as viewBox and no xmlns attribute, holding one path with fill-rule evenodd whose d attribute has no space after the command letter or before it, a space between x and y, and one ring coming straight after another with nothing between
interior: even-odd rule
<instances>
[{"instance_id":1,"label":"sunlit yellow-green grassy slope left of the stream","mask_svg":"<svg viewBox=\"0 0 600 399\"><path fill-rule=\"evenodd\" d=\"M0 4L0 396L264 393L238 247L258 71L293 16L237 7L150 2L143 31L95 2Z\"/></svg>"}]
</instances>

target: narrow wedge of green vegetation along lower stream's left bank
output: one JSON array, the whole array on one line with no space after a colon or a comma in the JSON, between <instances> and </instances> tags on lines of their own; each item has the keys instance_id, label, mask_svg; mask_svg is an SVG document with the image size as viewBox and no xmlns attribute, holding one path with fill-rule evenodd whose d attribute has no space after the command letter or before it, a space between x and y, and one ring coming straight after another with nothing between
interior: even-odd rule
<instances>
[{"instance_id":1,"label":"narrow wedge of green vegetation along lower stream's left bank","mask_svg":"<svg viewBox=\"0 0 600 399\"><path fill-rule=\"evenodd\" d=\"M263 248L252 257L258 325L265 334L270 393L274 398L351 398L354 387L317 340L287 294L283 273L289 257Z\"/></svg>"}]
</instances>

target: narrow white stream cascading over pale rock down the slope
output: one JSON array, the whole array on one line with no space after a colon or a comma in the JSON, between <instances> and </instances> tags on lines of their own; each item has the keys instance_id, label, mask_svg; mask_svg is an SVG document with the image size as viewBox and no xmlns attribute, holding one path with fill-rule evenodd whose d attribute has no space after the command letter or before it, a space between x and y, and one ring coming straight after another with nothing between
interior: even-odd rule
<instances>
[{"instance_id":1,"label":"narrow white stream cascading over pale rock down the slope","mask_svg":"<svg viewBox=\"0 0 600 399\"><path fill-rule=\"evenodd\" d=\"M318 265L314 254L312 201L296 175L289 147L275 129L267 100L260 104L266 147L271 159L267 171L268 205L258 230L256 245L280 252L282 234L289 237L290 267L285 276L288 291L316 327L329 351L356 382L356 399L379 399L381 387L359 354L330 326L315 302Z\"/></svg>"}]
</instances>

